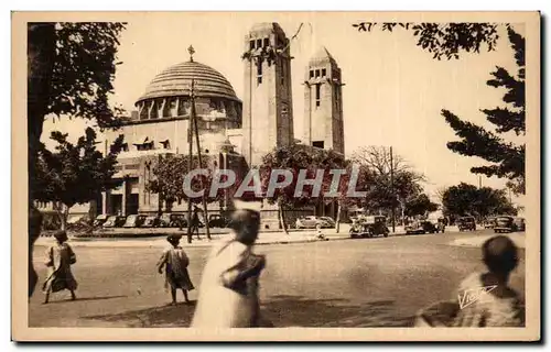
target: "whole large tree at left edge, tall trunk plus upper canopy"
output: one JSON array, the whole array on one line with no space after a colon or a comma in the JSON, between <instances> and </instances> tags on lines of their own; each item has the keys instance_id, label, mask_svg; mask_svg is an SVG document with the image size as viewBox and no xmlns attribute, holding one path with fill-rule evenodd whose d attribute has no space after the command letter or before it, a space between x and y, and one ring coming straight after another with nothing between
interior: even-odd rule
<instances>
[{"instance_id":1,"label":"whole large tree at left edge, tall trunk plus upper canopy","mask_svg":"<svg viewBox=\"0 0 551 352\"><path fill-rule=\"evenodd\" d=\"M100 127L116 125L108 97L123 28L116 22L28 24L29 229L40 228L31 215L36 210L34 191L40 189L36 160L45 117L68 114L96 120ZM39 235L40 231L29 231L29 287L36 285L32 248Z\"/></svg>"}]
</instances>

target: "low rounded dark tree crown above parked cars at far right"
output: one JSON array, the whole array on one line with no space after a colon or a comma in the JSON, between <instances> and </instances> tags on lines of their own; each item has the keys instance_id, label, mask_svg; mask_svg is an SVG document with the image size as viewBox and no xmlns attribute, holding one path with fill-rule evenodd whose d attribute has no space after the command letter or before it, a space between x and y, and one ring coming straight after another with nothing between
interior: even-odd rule
<instances>
[{"instance_id":1,"label":"low rounded dark tree crown above parked cars at far right","mask_svg":"<svg viewBox=\"0 0 551 352\"><path fill-rule=\"evenodd\" d=\"M444 191L443 207L444 213L452 217L474 216L482 219L488 216L516 213L504 190L490 187L477 188L465 183L449 187Z\"/></svg>"}]
</instances>

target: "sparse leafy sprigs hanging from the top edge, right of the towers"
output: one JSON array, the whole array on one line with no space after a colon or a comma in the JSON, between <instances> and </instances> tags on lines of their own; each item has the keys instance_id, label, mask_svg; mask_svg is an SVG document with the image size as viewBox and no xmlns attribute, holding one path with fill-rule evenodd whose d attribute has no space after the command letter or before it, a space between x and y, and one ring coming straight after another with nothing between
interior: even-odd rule
<instances>
[{"instance_id":1,"label":"sparse leafy sprigs hanging from the top edge, right of the towers","mask_svg":"<svg viewBox=\"0 0 551 352\"><path fill-rule=\"evenodd\" d=\"M374 29L409 31L415 37L417 45L439 61L443 57L457 59L461 52L479 53L483 44L488 52L494 51L499 37L497 23L358 22L353 26L359 32L371 32Z\"/></svg>"}]
</instances>

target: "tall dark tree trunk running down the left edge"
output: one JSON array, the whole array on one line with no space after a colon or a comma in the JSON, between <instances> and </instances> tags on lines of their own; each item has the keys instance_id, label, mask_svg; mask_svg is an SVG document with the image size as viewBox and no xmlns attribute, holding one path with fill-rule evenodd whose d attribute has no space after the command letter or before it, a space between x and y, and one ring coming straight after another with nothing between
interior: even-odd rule
<instances>
[{"instance_id":1,"label":"tall dark tree trunk running down the left edge","mask_svg":"<svg viewBox=\"0 0 551 352\"><path fill-rule=\"evenodd\" d=\"M40 235L43 217L34 208L36 155L40 148L42 127L50 102L50 88L55 59L55 24L28 24L28 78L26 78L26 127L29 174L29 297L32 296L37 276L33 267L34 241ZM37 213L37 215L36 215Z\"/></svg>"}]
</instances>

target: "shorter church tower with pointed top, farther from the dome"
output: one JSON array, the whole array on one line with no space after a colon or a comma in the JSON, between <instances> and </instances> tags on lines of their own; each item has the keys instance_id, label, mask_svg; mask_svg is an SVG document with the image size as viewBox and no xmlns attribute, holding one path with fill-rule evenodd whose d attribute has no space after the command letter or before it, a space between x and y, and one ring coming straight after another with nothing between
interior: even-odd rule
<instances>
[{"instance_id":1,"label":"shorter church tower with pointed top, farther from the dome","mask_svg":"<svg viewBox=\"0 0 551 352\"><path fill-rule=\"evenodd\" d=\"M307 145L344 154L341 68L325 47L310 59L304 78L304 138Z\"/></svg>"}]
</instances>

